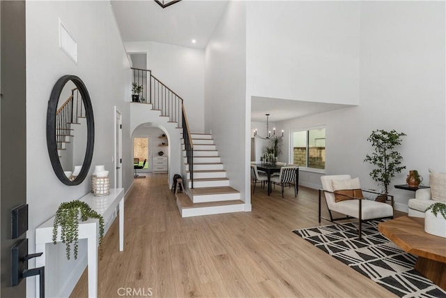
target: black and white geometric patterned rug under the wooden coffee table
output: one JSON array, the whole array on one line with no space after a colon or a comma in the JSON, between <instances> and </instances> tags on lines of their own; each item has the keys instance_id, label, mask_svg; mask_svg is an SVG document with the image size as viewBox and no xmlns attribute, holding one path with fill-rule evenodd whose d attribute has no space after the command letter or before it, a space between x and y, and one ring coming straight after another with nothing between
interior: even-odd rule
<instances>
[{"instance_id":1,"label":"black and white geometric patterned rug under the wooden coffee table","mask_svg":"<svg viewBox=\"0 0 446 298\"><path fill-rule=\"evenodd\" d=\"M325 225L293 230L303 239L380 284L399 297L446 297L446 292L415 271L416 255L401 250L378 232L378 223Z\"/></svg>"}]
</instances>

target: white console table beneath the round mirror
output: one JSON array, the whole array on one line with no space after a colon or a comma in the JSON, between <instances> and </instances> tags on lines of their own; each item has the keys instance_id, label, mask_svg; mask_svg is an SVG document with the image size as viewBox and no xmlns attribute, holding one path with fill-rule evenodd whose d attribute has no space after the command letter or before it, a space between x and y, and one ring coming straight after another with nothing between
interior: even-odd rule
<instances>
[{"instance_id":1,"label":"white console table beneath the round mirror","mask_svg":"<svg viewBox=\"0 0 446 298\"><path fill-rule=\"evenodd\" d=\"M112 216L119 204L119 251L124 250L124 188L110 189L110 194L105 197L95 197L89 193L80 201L102 215L104 220ZM36 253L43 253L36 258L36 267L46 266L47 244L53 242L54 216L36 228ZM89 271L89 297L98 297L98 243L99 243L99 221L90 218L79 222L79 239L87 239L87 258ZM57 241L61 241L61 227L58 230ZM38 277L37 277L38 278ZM45 288L46 285L45 285ZM36 295L39 293L39 283L36 280Z\"/></svg>"}]
</instances>

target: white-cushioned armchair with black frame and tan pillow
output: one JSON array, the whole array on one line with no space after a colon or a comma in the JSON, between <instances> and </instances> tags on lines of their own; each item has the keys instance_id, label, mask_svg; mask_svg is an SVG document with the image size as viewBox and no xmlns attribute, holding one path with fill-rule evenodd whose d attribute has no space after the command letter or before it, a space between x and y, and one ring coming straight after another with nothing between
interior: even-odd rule
<instances>
[{"instance_id":1,"label":"white-cushioned armchair with black frame and tan pillow","mask_svg":"<svg viewBox=\"0 0 446 298\"><path fill-rule=\"evenodd\" d=\"M386 204L383 202L376 202L373 200L363 200L358 195L346 195L341 192L342 189L348 191L359 191L354 192L359 193L362 196L362 191L360 190L359 179L351 179L350 175L330 175L321 177L323 189L319 190L319 205L318 205L318 216L319 223L321 223L321 218L325 221L343 221L346 219L357 218L358 219L358 236L361 239L361 227L362 221L368 221L371 219L378 218L393 218L393 196L387 195L391 198L392 204ZM352 187L337 188L335 186L342 184L351 183ZM351 182L352 181L352 182ZM373 191L366 191L369 193L374 193ZM321 216L321 197L322 193L325 196L325 202L327 203L328 212L330 214L329 218L323 218ZM338 198L335 198L337 195ZM339 196L344 197L339 200ZM338 202L337 202L338 200ZM345 217L334 218L332 211L336 211L340 214L345 214Z\"/></svg>"}]
</instances>

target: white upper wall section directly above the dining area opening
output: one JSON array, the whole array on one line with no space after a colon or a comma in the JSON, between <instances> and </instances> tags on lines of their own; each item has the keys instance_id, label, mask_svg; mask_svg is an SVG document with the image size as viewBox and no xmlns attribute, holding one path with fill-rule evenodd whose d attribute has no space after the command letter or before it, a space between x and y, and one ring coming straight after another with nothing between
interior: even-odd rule
<instances>
[{"instance_id":1,"label":"white upper wall section directly above the dining area opening","mask_svg":"<svg viewBox=\"0 0 446 298\"><path fill-rule=\"evenodd\" d=\"M247 93L357 104L360 1L247 1Z\"/></svg>"}]
</instances>

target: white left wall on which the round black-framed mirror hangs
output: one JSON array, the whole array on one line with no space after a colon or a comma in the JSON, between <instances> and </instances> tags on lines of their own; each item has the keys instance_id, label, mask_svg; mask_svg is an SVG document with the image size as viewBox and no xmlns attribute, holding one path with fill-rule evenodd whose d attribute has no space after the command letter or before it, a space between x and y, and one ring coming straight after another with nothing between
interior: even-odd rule
<instances>
[{"instance_id":1,"label":"white left wall on which the round black-framed mirror hangs","mask_svg":"<svg viewBox=\"0 0 446 298\"><path fill-rule=\"evenodd\" d=\"M75 64L59 48L59 20L77 41ZM29 204L29 253L34 253L35 228L54 216L61 202L82 198L90 175L79 186L57 179L49 161L45 124L49 94L62 75L77 75L91 96L95 146L89 173L105 165L113 181L114 106L123 115L123 187L132 184L130 146L130 65L106 1L31 1L26 3L26 180ZM45 268L47 296L68 296L86 266L86 246L78 260L66 260L65 246L50 245ZM34 267L34 261L29 262ZM36 297L35 279L27 279L28 297Z\"/></svg>"}]
</instances>

